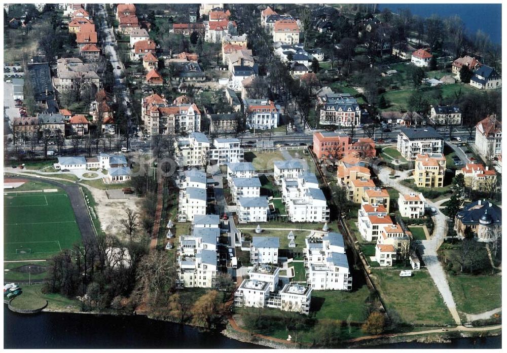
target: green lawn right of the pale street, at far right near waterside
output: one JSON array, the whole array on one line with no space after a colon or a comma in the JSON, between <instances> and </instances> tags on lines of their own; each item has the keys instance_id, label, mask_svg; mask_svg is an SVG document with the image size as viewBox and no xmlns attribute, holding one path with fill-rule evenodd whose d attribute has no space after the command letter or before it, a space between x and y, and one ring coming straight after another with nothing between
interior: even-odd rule
<instances>
[{"instance_id":1,"label":"green lawn right of the pale street, at far right near waterside","mask_svg":"<svg viewBox=\"0 0 507 353\"><path fill-rule=\"evenodd\" d=\"M447 276L458 311L477 314L502 306L501 276Z\"/></svg>"}]
</instances>

